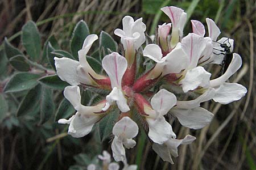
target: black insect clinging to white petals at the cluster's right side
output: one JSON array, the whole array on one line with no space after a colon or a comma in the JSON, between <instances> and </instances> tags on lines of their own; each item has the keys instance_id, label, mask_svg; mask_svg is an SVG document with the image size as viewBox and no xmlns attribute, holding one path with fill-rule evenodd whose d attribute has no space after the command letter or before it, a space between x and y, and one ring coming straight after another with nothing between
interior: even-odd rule
<instances>
[{"instance_id":1,"label":"black insect clinging to white petals at the cluster's right side","mask_svg":"<svg viewBox=\"0 0 256 170\"><path fill-rule=\"evenodd\" d=\"M225 42L228 41L228 43L226 44ZM217 41L214 41L217 42ZM226 70L229 67L230 62L232 61L232 57L233 57L233 52L231 52L230 48L232 47L232 45L229 42L229 38L226 39L223 44L220 42L217 42L218 44L220 44L220 47L223 48L223 50L220 49L216 49L213 48L214 50L218 50L220 53L216 54L216 55L224 55L224 59L221 63L221 70L220 70L220 74L224 74L226 72Z\"/></svg>"}]
</instances>

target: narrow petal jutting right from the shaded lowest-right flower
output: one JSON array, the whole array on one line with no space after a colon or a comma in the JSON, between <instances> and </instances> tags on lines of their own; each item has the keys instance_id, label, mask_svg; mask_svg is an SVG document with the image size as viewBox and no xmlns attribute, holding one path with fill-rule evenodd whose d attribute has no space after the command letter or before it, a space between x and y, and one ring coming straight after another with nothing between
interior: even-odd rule
<instances>
[{"instance_id":1,"label":"narrow petal jutting right from the shaded lowest-right flower","mask_svg":"<svg viewBox=\"0 0 256 170\"><path fill-rule=\"evenodd\" d=\"M165 144L169 148L171 155L174 156L175 158L178 155L177 152L177 147L180 145L189 145L193 141L195 141L196 137L193 137L192 135L186 135L184 139L169 139Z\"/></svg>"}]
</instances>

